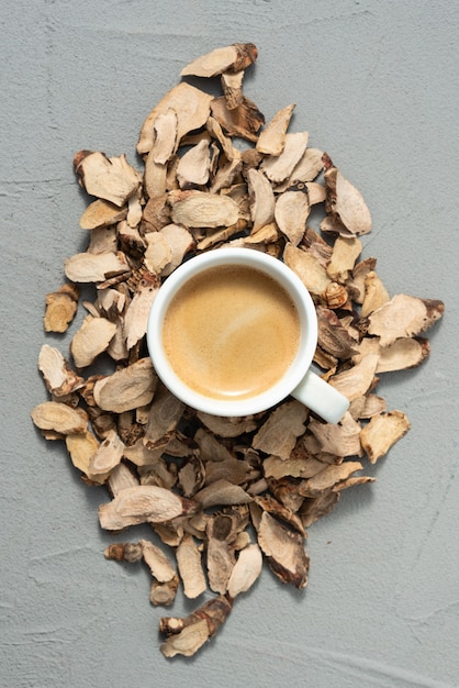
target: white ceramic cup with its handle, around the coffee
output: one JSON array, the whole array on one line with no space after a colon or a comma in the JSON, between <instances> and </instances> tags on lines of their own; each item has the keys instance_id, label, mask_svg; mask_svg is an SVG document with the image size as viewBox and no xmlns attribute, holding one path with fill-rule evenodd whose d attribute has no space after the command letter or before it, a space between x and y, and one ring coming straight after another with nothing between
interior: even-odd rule
<instances>
[{"instance_id":1,"label":"white ceramic cup with its handle, around the coffee","mask_svg":"<svg viewBox=\"0 0 459 688\"><path fill-rule=\"evenodd\" d=\"M214 399L191 389L177 376L163 346L163 323L175 295L191 277L226 265L253 267L276 279L293 300L301 329L296 355L282 378L268 390L238 400ZM166 387L188 406L212 415L250 415L276 406L290 395L328 423L337 423L349 407L346 397L310 370L317 345L317 317L306 287L284 263L253 248L210 251L186 260L171 273L153 302L147 345L155 370Z\"/></svg>"}]
</instances>

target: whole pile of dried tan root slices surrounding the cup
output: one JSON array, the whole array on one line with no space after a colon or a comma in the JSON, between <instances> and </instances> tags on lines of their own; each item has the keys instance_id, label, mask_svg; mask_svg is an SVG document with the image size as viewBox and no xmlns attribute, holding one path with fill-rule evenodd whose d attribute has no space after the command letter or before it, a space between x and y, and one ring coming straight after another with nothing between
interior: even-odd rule
<instances>
[{"instance_id":1,"label":"whole pile of dried tan root slices surrounding the cup","mask_svg":"<svg viewBox=\"0 0 459 688\"><path fill-rule=\"evenodd\" d=\"M368 464L410 429L403 411L388 411L380 376L428 357L424 333L445 310L436 299L391 298L377 259L361 257L371 215L360 191L327 153L307 147L306 131L290 131L294 103L266 123L245 96L256 59L254 44L234 43L184 66L184 80L141 125L141 171L124 154L76 153L87 248L65 260L68 281L45 296L44 331L66 333L85 285L68 352L40 349L47 400L32 421L45 440L65 443L88 488L109 496L99 500L102 529L150 530L149 539L111 544L105 557L147 566L155 607L172 604L180 588L190 599L216 593L188 617L160 619L166 657L200 651L264 563L280 581L305 587L306 529L342 491L370 489ZM188 77L214 79L205 88L215 95ZM350 401L338 423L291 397L221 418L186 407L159 382L146 345L152 304L188 257L222 246L273 256L309 289L314 363Z\"/></svg>"}]
</instances>

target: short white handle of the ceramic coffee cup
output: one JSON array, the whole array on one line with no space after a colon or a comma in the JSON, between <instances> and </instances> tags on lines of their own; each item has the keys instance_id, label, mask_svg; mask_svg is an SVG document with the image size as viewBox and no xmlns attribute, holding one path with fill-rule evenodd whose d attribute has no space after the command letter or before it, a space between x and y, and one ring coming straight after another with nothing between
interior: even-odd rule
<instances>
[{"instance_id":1,"label":"short white handle of the ceramic coffee cup","mask_svg":"<svg viewBox=\"0 0 459 688\"><path fill-rule=\"evenodd\" d=\"M327 423L338 423L349 408L349 400L312 370L291 393Z\"/></svg>"}]
</instances>

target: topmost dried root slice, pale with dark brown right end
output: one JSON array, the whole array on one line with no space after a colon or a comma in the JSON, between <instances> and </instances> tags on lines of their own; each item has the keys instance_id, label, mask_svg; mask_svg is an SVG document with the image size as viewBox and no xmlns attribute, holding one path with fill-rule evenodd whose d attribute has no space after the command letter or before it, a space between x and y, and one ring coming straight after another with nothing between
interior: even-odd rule
<instances>
[{"instance_id":1,"label":"topmost dried root slice, pale with dark brown right end","mask_svg":"<svg viewBox=\"0 0 459 688\"><path fill-rule=\"evenodd\" d=\"M180 76L215 77L224 71L235 73L245 69L257 59L258 51L253 43L234 43L219 47L193 59L183 67Z\"/></svg>"}]
</instances>

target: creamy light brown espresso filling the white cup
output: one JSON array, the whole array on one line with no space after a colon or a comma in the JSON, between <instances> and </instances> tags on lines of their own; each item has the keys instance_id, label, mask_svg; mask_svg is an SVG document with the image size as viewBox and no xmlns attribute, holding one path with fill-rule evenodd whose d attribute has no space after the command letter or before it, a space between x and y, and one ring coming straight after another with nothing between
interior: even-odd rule
<instances>
[{"instance_id":1,"label":"creamy light brown espresso filling the white cup","mask_svg":"<svg viewBox=\"0 0 459 688\"><path fill-rule=\"evenodd\" d=\"M300 343L287 290L245 265L211 267L172 298L163 345L176 375L213 399L255 397L278 382Z\"/></svg>"}]
</instances>

